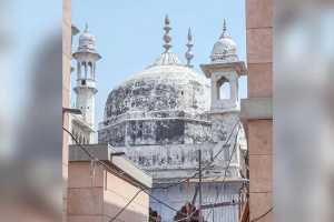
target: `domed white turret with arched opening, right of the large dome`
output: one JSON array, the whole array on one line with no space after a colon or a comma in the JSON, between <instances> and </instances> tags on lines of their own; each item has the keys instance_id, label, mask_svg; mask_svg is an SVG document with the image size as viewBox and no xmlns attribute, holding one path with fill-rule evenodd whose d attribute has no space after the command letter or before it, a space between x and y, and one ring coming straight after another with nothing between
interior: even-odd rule
<instances>
[{"instance_id":1,"label":"domed white turret with arched opening, right of the large dome","mask_svg":"<svg viewBox=\"0 0 334 222\"><path fill-rule=\"evenodd\" d=\"M237 46L227 33L225 20L223 32L212 51L210 63L200 68L212 80L212 112L239 111L238 78L246 74L246 68L245 62L238 59Z\"/></svg>"}]
</instances>

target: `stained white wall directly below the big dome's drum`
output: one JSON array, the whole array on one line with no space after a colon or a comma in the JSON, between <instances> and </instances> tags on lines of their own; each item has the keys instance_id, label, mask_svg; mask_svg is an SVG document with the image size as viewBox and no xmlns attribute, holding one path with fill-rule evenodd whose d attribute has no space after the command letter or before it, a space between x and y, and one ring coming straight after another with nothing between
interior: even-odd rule
<instances>
[{"instance_id":1,"label":"stained white wall directly below the big dome's drum","mask_svg":"<svg viewBox=\"0 0 334 222\"><path fill-rule=\"evenodd\" d=\"M238 144L239 141L237 142ZM126 155L137 167L149 172L155 182L171 182L183 178L191 176L198 168L198 150L202 150L203 164L210 163L214 157L222 150L223 152L215 159L210 169L204 172L204 178L223 176L228 159L234 149L234 141L225 144L202 143L202 144L166 144L166 145L137 145L137 147L117 147L118 151L126 152ZM242 150L236 148L228 178L240 178L243 167Z\"/></svg>"}]
</instances>

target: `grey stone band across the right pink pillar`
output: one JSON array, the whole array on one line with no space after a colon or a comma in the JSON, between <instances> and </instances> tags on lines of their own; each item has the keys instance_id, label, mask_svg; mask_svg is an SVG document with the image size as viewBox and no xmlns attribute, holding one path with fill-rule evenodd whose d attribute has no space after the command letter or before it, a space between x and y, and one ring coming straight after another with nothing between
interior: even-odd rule
<instances>
[{"instance_id":1,"label":"grey stone band across the right pink pillar","mask_svg":"<svg viewBox=\"0 0 334 222\"><path fill-rule=\"evenodd\" d=\"M248 98L240 101L240 119L244 120L272 120L272 98Z\"/></svg>"}]
</instances>

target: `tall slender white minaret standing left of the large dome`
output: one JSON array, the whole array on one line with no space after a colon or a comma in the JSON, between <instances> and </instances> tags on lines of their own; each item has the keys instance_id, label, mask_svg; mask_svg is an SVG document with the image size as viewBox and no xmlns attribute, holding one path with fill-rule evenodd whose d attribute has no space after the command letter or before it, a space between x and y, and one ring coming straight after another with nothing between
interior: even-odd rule
<instances>
[{"instance_id":1,"label":"tall slender white minaret standing left of the large dome","mask_svg":"<svg viewBox=\"0 0 334 222\"><path fill-rule=\"evenodd\" d=\"M86 24L84 33L79 37L79 47L73 58L77 60L77 93L76 108L82 112L84 120L94 127L95 124L95 94L96 88L96 62L101 56L96 51L96 39L89 33Z\"/></svg>"}]
</instances>

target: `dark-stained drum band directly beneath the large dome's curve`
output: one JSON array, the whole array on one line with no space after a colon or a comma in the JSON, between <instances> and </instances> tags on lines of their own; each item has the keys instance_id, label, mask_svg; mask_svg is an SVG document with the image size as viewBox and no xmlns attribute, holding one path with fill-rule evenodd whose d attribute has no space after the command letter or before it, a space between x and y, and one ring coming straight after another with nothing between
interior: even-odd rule
<instances>
[{"instance_id":1,"label":"dark-stained drum band directly beneath the large dome's curve","mask_svg":"<svg viewBox=\"0 0 334 222\"><path fill-rule=\"evenodd\" d=\"M210 123L174 119L126 120L99 131L99 142L120 145L200 143L210 140Z\"/></svg>"}]
</instances>

